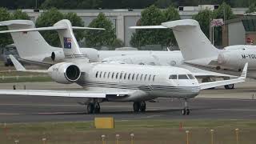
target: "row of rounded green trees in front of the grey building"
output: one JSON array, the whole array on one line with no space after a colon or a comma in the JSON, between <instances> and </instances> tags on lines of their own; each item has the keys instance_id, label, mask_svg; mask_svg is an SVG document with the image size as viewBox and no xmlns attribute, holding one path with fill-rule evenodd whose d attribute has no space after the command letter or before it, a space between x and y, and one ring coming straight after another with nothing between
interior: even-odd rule
<instances>
[{"instance_id":1,"label":"row of rounded green trees in front of the grey building","mask_svg":"<svg viewBox=\"0 0 256 144\"><path fill-rule=\"evenodd\" d=\"M247 12L254 12L256 10L255 5L251 5ZM193 18L197 20L202 28L202 31L209 38L210 21L214 18L224 18L224 11L226 11L226 20L235 18L230 5L223 2L218 7L218 10L202 10L198 14L195 14ZM84 26L82 18L78 17L75 13L62 14L58 9L51 8L42 13L37 21L37 27L53 26L55 22L62 19L69 19L73 26ZM0 21L6 21L10 19L29 19L26 13L21 10L14 11L10 14L7 9L0 8ZM161 25L162 22L174 21L180 19L178 10L174 6L169 6L167 9L162 10L158 6L152 5L142 10L141 18L137 22L137 26L154 26ZM74 34L79 42L82 42L82 46L94 47L101 49L102 46L110 48L123 46L123 42L117 38L115 33L115 27L109 18L105 14L98 14L98 17L90 22L90 27L100 27L106 30L85 30L74 31ZM6 30L6 27L0 26L1 30ZM46 41L51 46L60 46L58 34L55 31L40 32ZM10 34L0 35L0 45L5 46L10 44L12 39ZM222 45L222 27L214 29L214 43L218 46ZM142 47L146 45L161 45L161 46L176 46L177 42L174 38L174 34L171 30L135 30L130 40L131 46Z\"/></svg>"}]
</instances>

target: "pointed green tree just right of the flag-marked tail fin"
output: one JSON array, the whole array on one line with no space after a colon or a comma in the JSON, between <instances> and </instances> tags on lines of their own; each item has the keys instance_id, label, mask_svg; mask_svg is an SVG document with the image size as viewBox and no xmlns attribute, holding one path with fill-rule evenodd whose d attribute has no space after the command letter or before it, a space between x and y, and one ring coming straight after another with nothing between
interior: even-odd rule
<instances>
[{"instance_id":1,"label":"pointed green tree just right of the flag-marked tail fin","mask_svg":"<svg viewBox=\"0 0 256 144\"><path fill-rule=\"evenodd\" d=\"M86 46L99 49L101 46L112 46L116 39L113 23L106 18L105 14L98 14L90 27L104 28L106 30L88 30L86 31Z\"/></svg>"}]
</instances>

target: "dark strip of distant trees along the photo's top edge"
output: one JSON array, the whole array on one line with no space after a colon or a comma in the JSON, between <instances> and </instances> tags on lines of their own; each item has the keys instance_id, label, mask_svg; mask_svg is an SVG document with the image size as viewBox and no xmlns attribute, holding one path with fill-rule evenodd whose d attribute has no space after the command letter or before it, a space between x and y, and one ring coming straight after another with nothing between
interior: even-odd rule
<instances>
[{"instance_id":1,"label":"dark strip of distant trees along the photo's top edge","mask_svg":"<svg viewBox=\"0 0 256 144\"><path fill-rule=\"evenodd\" d=\"M226 2L232 7L248 7L256 0L8 0L0 2L0 7L8 9L144 9L155 5L167 8L170 5L198 6L198 5L221 5Z\"/></svg>"}]
</instances>

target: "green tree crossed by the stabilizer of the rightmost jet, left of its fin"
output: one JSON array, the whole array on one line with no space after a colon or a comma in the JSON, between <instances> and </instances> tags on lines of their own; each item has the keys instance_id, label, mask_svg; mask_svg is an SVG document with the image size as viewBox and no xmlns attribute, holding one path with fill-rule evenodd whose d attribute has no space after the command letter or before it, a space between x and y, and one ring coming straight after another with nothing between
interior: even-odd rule
<instances>
[{"instance_id":1,"label":"green tree crossed by the stabilizer of the rightmost jet, left of its fin","mask_svg":"<svg viewBox=\"0 0 256 144\"><path fill-rule=\"evenodd\" d=\"M167 10L160 10L157 6L150 6L142 11L142 18L138 22L141 26L156 26L162 22L180 19L178 11L170 6ZM175 45L176 41L171 30L136 30L132 35L130 44L132 46L145 45Z\"/></svg>"}]
</instances>

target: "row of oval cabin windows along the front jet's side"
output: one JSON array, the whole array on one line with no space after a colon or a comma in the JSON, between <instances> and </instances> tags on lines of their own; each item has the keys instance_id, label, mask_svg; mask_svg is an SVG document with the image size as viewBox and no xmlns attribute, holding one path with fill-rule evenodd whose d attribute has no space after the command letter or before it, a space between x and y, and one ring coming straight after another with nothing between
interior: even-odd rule
<instances>
[{"instance_id":1,"label":"row of oval cabin windows along the front jet's side","mask_svg":"<svg viewBox=\"0 0 256 144\"><path fill-rule=\"evenodd\" d=\"M154 82L154 79L155 79L155 75L151 75L151 74L123 74L123 73L114 73L114 72L99 72L97 71L96 72L96 75L95 75L96 78L116 78L116 79L124 79L124 80L152 80Z\"/></svg>"}]
</instances>

